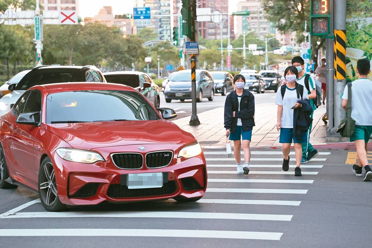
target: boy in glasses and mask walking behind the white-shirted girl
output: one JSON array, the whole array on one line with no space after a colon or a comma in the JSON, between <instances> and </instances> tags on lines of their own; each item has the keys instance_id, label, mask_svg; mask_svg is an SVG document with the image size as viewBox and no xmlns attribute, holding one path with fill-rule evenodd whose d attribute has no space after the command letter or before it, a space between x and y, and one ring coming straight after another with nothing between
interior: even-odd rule
<instances>
[{"instance_id":1,"label":"boy in glasses and mask walking behind the white-shirted girl","mask_svg":"<svg viewBox=\"0 0 372 248\"><path fill-rule=\"evenodd\" d=\"M305 73L304 71L305 61L300 56L292 58L292 66L295 66L298 71L298 83L307 89L308 99L310 100L310 105L312 106L313 112L310 117L314 114L314 110L317 109L314 104L314 98L317 96L315 90L315 83L310 77L310 74ZM309 131L307 133L307 141L302 143L302 158L301 163L307 163L311 159L315 158L318 155L318 151L310 143L310 133L312 129L312 123L310 125Z\"/></svg>"}]
</instances>

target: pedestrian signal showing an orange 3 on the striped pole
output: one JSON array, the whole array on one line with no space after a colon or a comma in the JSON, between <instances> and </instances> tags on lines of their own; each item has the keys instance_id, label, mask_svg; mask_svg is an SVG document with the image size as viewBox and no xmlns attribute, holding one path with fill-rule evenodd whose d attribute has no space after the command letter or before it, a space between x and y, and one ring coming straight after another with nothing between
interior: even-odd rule
<instances>
[{"instance_id":1,"label":"pedestrian signal showing an orange 3 on the striped pole","mask_svg":"<svg viewBox=\"0 0 372 248\"><path fill-rule=\"evenodd\" d=\"M311 35L324 36L330 34L329 0L311 0Z\"/></svg>"}]
</instances>

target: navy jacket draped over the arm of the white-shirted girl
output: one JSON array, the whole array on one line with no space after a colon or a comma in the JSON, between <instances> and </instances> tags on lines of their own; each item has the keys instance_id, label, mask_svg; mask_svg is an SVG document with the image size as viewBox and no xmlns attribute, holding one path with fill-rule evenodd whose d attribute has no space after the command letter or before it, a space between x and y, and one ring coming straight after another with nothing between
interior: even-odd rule
<instances>
[{"instance_id":1,"label":"navy jacket draped over the arm of the white-shirted girl","mask_svg":"<svg viewBox=\"0 0 372 248\"><path fill-rule=\"evenodd\" d=\"M301 108L295 108L293 111L293 132L296 139L301 139L301 135L309 130L312 123L310 115L312 113L312 106L309 99L298 101L302 104Z\"/></svg>"}]
</instances>

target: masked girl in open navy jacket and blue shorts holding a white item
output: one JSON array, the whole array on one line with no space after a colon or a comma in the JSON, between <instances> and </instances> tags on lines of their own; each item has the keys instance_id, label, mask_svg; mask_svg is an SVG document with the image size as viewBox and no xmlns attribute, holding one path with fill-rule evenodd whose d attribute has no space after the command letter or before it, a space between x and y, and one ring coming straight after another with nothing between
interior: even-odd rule
<instances>
[{"instance_id":1,"label":"masked girl in open navy jacket and blue shorts holding a white item","mask_svg":"<svg viewBox=\"0 0 372 248\"><path fill-rule=\"evenodd\" d=\"M235 90L226 97L224 125L226 137L234 141L234 157L237 163L237 173L249 173L251 159L250 142L254 127L254 96L244 89L246 79L237 74L233 79ZM241 164L241 139L243 140L244 165Z\"/></svg>"}]
</instances>

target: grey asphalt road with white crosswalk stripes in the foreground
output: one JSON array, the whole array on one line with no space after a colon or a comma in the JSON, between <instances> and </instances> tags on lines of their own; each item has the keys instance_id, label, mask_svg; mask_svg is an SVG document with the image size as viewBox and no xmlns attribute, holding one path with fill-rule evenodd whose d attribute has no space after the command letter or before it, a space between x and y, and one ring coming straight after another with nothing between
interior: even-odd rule
<instances>
[{"instance_id":1,"label":"grey asphalt road with white crosswalk stripes in the foreground","mask_svg":"<svg viewBox=\"0 0 372 248\"><path fill-rule=\"evenodd\" d=\"M22 188L0 190L0 247L367 247L372 182L319 150L294 177L278 150L252 149L250 174L205 149L208 190L196 203L100 204L46 212ZM10 235L10 236L8 236ZM16 236L20 235L20 236Z\"/></svg>"}]
</instances>

